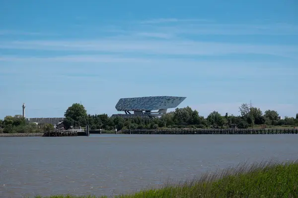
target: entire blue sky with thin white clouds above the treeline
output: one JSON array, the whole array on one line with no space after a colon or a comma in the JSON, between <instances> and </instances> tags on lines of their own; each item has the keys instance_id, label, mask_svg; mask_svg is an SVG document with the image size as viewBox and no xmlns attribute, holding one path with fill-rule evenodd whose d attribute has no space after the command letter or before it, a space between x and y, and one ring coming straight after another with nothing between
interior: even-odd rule
<instances>
[{"instance_id":1,"label":"entire blue sky with thin white clouds above the treeline","mask_svg":"<svg viewBox=\"0 0 298 198\"><path fill-rule=\"evenodd\" d=\"M0 118L143 96L295 116L297 79L297 0L0 0Z\"/></svg>"}]
</instances>

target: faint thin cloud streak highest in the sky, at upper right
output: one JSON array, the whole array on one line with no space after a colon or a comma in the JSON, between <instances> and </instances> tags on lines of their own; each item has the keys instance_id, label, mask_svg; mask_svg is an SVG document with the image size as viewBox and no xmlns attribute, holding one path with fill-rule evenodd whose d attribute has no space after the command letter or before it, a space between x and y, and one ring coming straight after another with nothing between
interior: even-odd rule
<instances>
[{"instance_id":1,"label":"faint thin cloud streak highest in the sky, at upper right","mask_svg":"<svg viewBox=\"0 0 298 198\"><path fill-rule=\"evenodd\" d=\"M288 23L218 23L205 19L160 18L142 21L146 31L190 35L298 35L298 25Z\"/></svg>"}]
</instances>

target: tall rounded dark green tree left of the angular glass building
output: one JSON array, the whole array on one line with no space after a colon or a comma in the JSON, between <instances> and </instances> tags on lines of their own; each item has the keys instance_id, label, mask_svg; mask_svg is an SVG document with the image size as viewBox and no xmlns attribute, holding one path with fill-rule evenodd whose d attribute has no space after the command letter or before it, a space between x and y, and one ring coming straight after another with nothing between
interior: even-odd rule
<instances>
[{"instance_id":1,"label":"tall rounded dark green tree left of the angular glass building","mask_svg":"<svg viewBox=\"0 0 298 198\"><path fill-rule=\"evenodd\" d=\"M64 113L65 125L67 128L70 126L85 126L87 120L87 111L82 104L74 103Z\"/></svg>"}]
</instances>

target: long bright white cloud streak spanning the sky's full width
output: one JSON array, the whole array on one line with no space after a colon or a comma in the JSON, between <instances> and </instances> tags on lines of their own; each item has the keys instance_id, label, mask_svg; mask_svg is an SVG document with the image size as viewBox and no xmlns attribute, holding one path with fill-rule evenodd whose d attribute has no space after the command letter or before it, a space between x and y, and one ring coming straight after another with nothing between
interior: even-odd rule
<instances>
[{"instance_id":1,"label":"long bright white cloud streak spanning the sky's full width","mask_svg":"<svg viewBox=\"0 0 298 198\"><path fill-rule=\"evenodd\" d=\"M0 42L0 49L100 51L159 55L268 54L298 57L298 46L231 44L187 40L12 41Z\"/></svg>"}]
</instances>

